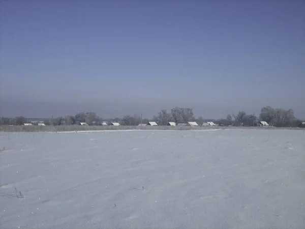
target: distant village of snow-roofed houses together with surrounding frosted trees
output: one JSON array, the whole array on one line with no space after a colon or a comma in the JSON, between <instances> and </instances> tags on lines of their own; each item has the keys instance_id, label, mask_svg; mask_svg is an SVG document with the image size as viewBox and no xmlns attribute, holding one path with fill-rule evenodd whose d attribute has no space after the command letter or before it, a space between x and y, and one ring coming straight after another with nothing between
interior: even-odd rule
<instances>
[{"instance_id":1,"label":"distant village of snow-roofed houses together with surrounding frosted trees","mask_svg":"<svg viewBox=\"0 0 305 229\"><path fill-rule=\"evenodd\" d=\"M265 126L265 127L305 127L305 121L296 119L293 109L263 107L259 117L245 111L228 114L224 119L195 118L192 108L174 107L158 112L153 119L142 118L141 113L123 118L103 119L95 112L79 112L75 116L51 117L50 119L26 119L25 117L0 118L0 125L10 126Z\"/></svg>"}]
</instances>

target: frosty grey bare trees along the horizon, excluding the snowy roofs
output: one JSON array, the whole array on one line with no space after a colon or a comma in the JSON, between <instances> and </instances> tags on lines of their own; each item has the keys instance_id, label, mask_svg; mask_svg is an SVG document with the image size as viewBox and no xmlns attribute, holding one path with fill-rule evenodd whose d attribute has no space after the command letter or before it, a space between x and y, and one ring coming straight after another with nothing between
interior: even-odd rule
<instances>
[{"instance_id":1,"label":"frosty grey bare trees along the horizon, excluding the snowy roofs","mask_svg":"<svg viewBox=\"0 0 305 229\"><path fill-rule=\"evenodd\" d=\"M167 125L168 122L187 123L197 122L201 125L203 122L212 121L220 126L256 126L260 121L272 123L276 127L296 127L301 123L294 116L293 109L272 108L266 106L261 108L259 117L254 114L249 115L245 111L238 111L237 113L228 114L226 118L219 120L203 119L202 117L195 118L192 108L174 107L167 111L162 109L153 119L142 119L141 115L126 115L123 118L102 119L95 112L79 112L75 116L62 116L55 119L44 121L45 125L78 125L79 123L87 123L88 125L102 125L103 122L110 124L111 122L118 122L120 125L137 126L140 123L146 124L149 121L158 122L158 125ZM24 117L0 118L0 125L23 125L24 123L31 123Z\"/></svg>"}]
</instances>

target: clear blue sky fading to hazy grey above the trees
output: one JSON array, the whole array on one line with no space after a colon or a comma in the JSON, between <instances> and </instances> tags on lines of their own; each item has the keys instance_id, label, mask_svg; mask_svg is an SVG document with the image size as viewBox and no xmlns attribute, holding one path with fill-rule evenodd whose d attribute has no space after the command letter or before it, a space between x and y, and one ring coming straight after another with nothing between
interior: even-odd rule
<instances>
[{"instance_id":1,"label":"clear blue sky fading to hazy grey above the trees","mask_svg":"<svg viewBox=\"0 0 305 229\"><path fill-rule=\"evenodd\" d=\"M0 116L305 118L305 1L0 2Z\"/></svg>"}]
</instances>

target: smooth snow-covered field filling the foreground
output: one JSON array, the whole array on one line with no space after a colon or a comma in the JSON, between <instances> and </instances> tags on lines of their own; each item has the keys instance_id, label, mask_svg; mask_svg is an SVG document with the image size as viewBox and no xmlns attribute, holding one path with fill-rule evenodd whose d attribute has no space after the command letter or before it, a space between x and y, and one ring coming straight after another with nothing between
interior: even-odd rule
<instances>
[{"instance_id":1,"label":"smooth snow-covered field filling the foreground","mask_svg":"<svg viewBox=\"0 0 305 229\"><path fill-rule=\"evenodd\" d=\"M305 228L302 130L0 135L2 229Z\"/></svg>"}]
</instances>

